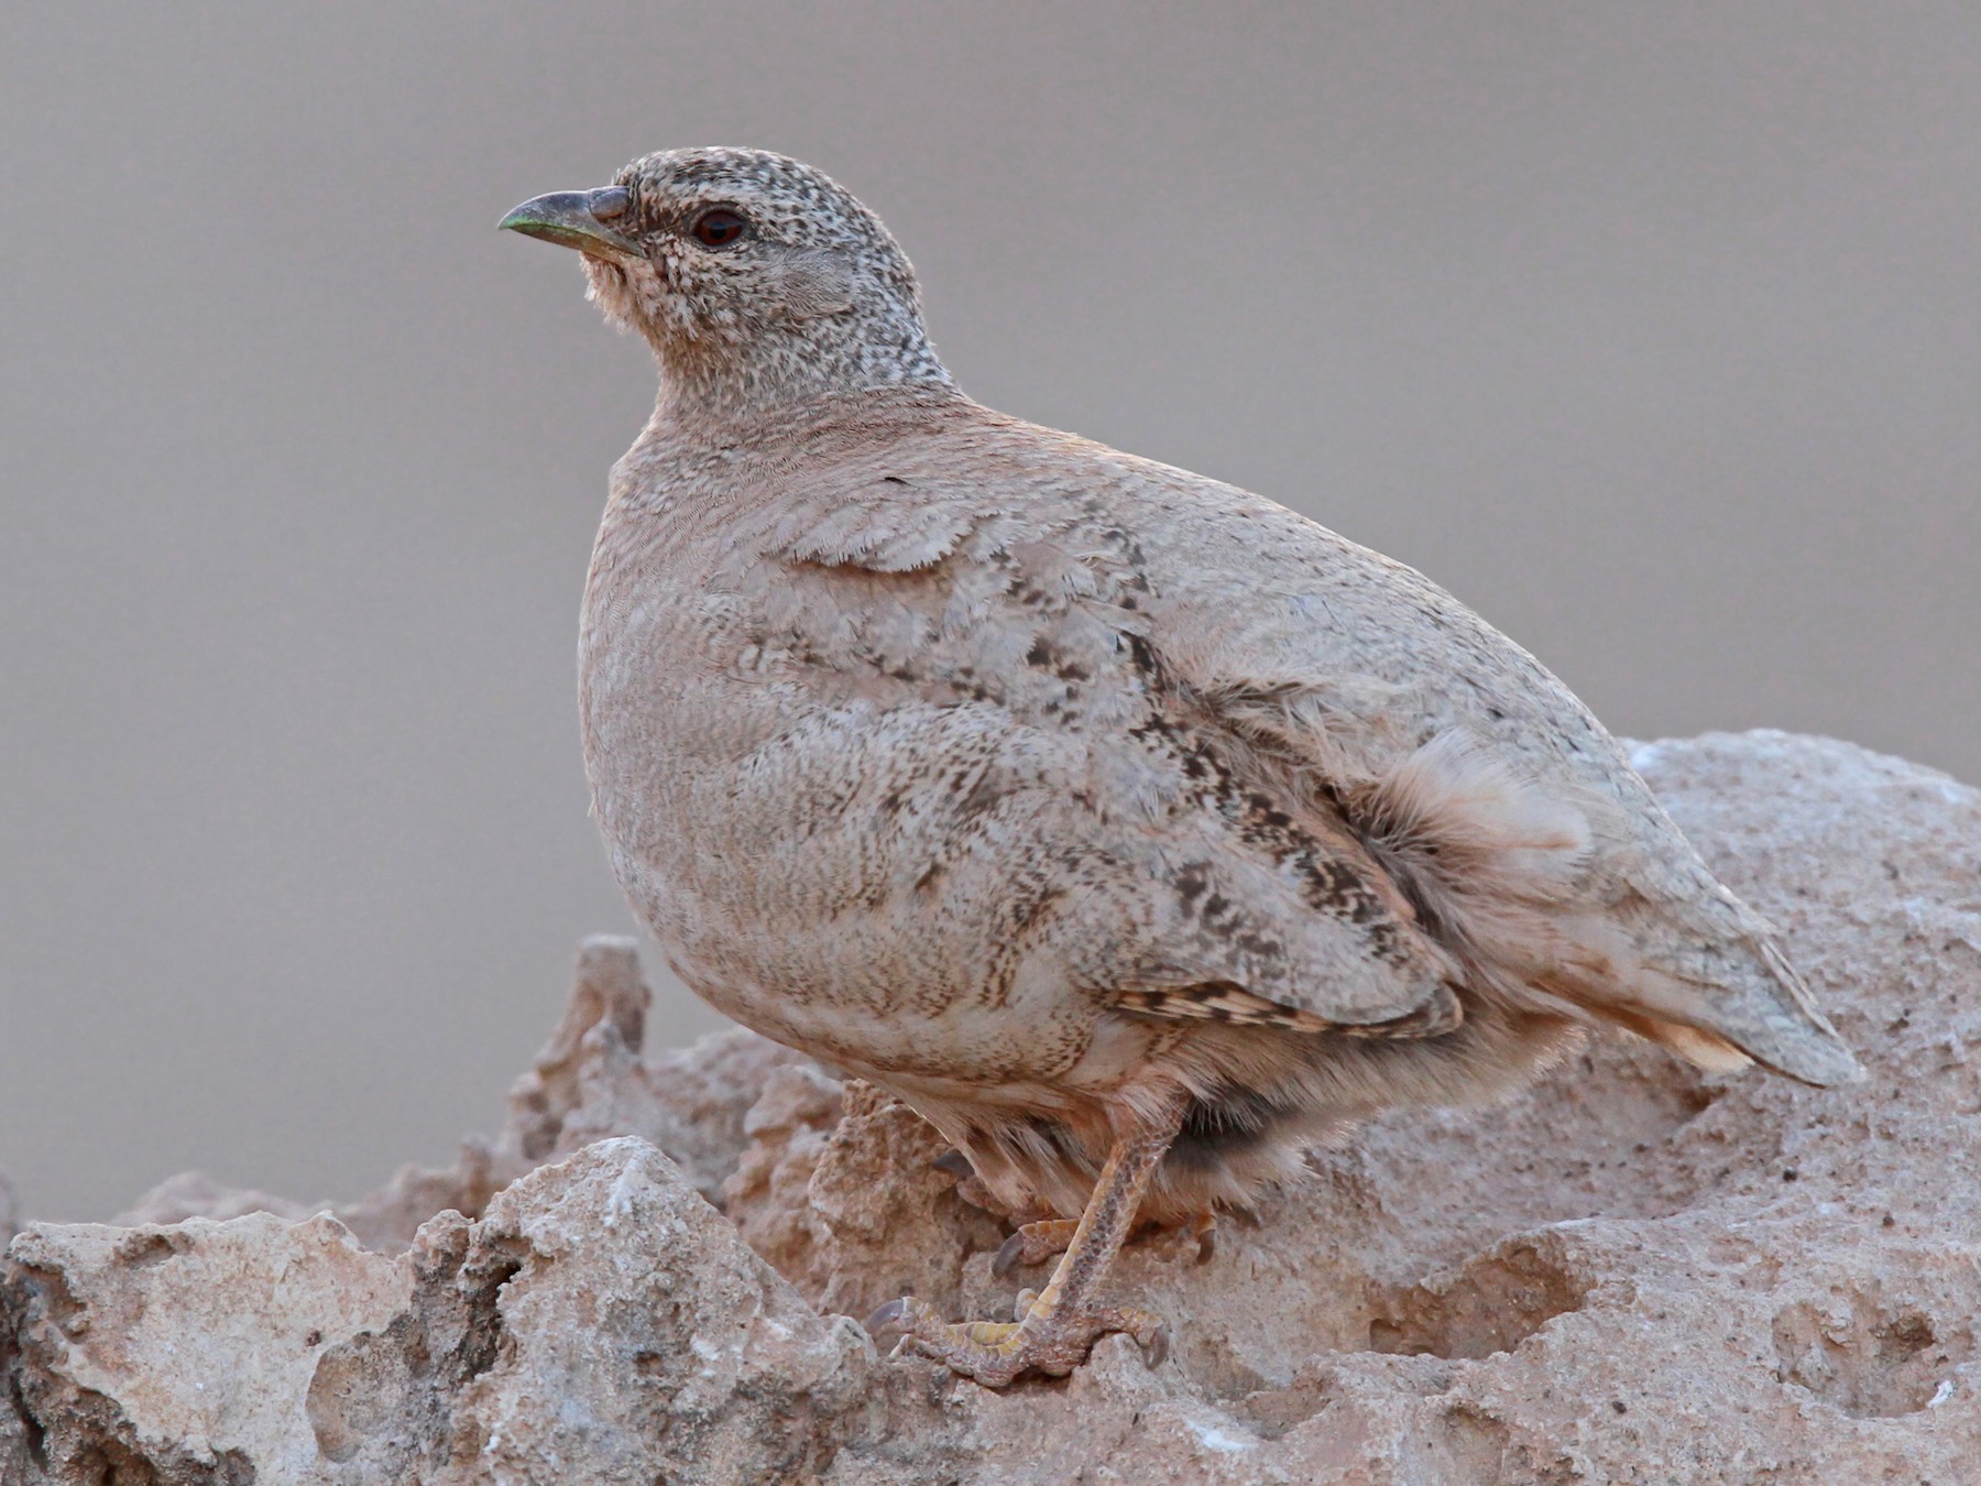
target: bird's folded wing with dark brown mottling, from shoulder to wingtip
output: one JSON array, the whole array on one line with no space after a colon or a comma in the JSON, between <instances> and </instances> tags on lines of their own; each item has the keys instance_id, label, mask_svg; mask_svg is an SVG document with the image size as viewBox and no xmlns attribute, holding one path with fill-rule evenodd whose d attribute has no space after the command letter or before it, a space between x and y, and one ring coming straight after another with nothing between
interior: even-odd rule
<instances>
[{"instance_id":1,"label":"bird's folded wing with dark brown mottling, from shoulder to wingtip","mask_svg":"<svg viewBox=\"0 0 1981 1486\"><path fill-rule=\"evenodd\" d=\"M1062 791L1032 830L1040 852L1054 830L1090 836L1056 907L1086 915L1068 955L1090 989L1151 1016L1377 1036L1458 1024L1458 967L1385 866L1179 690L1125 529L842 472L749 545L777 565L759 598L775 644L814 688L897 711L989 703L1014 739L1078 757L1028 785L1016 761L1038 745L1012 741L996 767L1014 777L959 773L945 850L990 826L987 798Z\"/></svg>"}]
</instances>

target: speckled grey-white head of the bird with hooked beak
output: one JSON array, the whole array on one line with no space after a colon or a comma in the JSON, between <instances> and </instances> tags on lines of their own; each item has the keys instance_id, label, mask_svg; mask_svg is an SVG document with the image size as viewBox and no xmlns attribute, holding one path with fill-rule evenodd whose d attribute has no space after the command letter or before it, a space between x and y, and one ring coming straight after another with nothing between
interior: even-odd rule
<instances>
[{"instance_id":1,"label":"speckled grey-white head of the bird with hooked beak","mask_svg":"<svg viewBox=\"0 0 1981 1486\"><path fill-rule=\"evenodd\" d=\"M852 192L784 155L662 151L501 226L584 256L590 299L648 339L683 410L949 386L907 256Z\"/></svg>"}]
</instances>

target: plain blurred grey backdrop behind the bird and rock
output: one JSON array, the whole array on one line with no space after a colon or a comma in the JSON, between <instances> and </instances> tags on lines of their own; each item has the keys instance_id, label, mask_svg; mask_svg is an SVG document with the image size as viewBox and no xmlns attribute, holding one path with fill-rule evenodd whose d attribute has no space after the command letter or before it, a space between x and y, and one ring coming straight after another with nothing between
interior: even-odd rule
<instances>
[{"instance_id":1,"label":"plain blurred grey backdrop behind the bird and rock","mask_svg":"<svg viewBox=\"0 0 1981 1486\"><path fill-rule=\"evenodd\" d=\"M1424 569L1616 731L1981 777L1971 0L16 6L0 137L34 1217L446 1159L630 929L573 648L654 374L493 226L652 149L824 166L979 398Z\"/></svg>"}]
</instances>

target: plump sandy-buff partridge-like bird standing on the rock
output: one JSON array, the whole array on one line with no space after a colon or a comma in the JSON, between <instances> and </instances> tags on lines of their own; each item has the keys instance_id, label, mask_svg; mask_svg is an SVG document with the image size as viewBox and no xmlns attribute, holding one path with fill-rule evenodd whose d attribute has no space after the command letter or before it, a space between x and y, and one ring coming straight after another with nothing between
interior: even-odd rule
<instances>
[{"instance_id":1,"label":"plump sandy-buff partridge-like bird standing on the rock","mask_svg":"<svg viewBox=\"0 0 1981 1486\"><path fill-rule=\"evenodd\" d=\"M1137 1224L1204 1230L1591 1026L1862 1078L1531 654L1284 505L967 396L824 172L674 149L501 226L574 248L660 372L578 644L628 902L1058 1252L1012 1322L884 1306L897 1351L1004 1387L1125 1331L1159 1365L1161 1318L1103 1294Z\"/></svg>"}]
</instances>

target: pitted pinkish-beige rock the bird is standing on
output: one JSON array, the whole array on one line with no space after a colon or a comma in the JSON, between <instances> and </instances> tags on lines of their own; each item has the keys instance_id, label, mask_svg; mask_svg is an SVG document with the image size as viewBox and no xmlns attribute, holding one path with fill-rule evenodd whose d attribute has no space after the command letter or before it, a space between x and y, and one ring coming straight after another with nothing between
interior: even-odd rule
<instances>
[{"instance_id":1,"label":"pitted pinkish-beige rock the bird is standing on","mask_svg":"<svg viewBox=\"0 0 1981 1486\"><path fill-rule=\"evenodd\" d=\"M992 1280L1004 1226L933 1131L747 1034L642 1060L630 951L592 949L505 1135L365 1209L406 1252L273 1213L16 1238L0 1480L1965 1480L1981 793L1781 733L1636 763L1866 1084L1593 1042L1504 1108L1315 1155L1208 1264L1133 1244L1159 1369L1109 1337L989 1393L830 1314L1044 1280ZM640 1137L574 1147L616 1121ZM471 1215L406 1226L450 1195Z\"/></svg>"}]
</instances>

